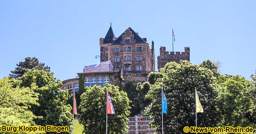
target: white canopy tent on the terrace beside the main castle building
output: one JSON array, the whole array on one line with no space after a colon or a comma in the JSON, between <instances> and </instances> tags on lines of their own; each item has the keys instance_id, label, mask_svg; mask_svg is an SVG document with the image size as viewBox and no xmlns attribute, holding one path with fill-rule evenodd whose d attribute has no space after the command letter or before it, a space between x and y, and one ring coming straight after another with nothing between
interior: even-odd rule
<instances>
[{"instance_id":1,"label":"white canopy tent on the terrace beside the main castle building","mask_svg":"<svg viewBox=\"0 0 256 134\"><path fill-rule=\"evenodd\" d=\"M85 66L83 72L91 73L91 72L106 72L106 71L115 71L111 61L100 62L98 65L90 65Z\"/></svg>"}]
</instances>

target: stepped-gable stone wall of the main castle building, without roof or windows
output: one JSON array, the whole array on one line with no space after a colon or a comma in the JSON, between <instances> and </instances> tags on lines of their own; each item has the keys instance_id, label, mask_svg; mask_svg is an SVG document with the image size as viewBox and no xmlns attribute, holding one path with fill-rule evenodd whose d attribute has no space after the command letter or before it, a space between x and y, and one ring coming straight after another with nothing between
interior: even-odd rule
<instances>
[{"instance_id":1,"label":"stepped-gable stone wall of the main castle building, without roof or windows","mask_svg":"<svg viewBox=\"0 0 256 134\"><path fill-rule=\"evenodd\" d=\"M130 39L131 45L125 45L126 39ZM111 61L114 67L123 68L124 56L131 56L131 61L124 61L124 65L130 65L132 71L136 71L137 65L142 65L142 71L155 71L154 67L154 54L152 55L152 50L149 47L148 43L136 43L131 35L130 29L126 29L122 40L121 45L111 45L103 44L103 38L100 38L100 54L101 61ZM124 47L131 47L131 52L124 52ZM136 51L137 47L142 47L142 51ZM119 48L119 52L114 52L114 48ZM153 51L154 52L154 51ZM108 58L106 58L106 53L108 53ZM142 56L142 61L136 61L136 56ZM119 57L119 62L114 62L114 58Z\"/></svg>"}]
</instances>

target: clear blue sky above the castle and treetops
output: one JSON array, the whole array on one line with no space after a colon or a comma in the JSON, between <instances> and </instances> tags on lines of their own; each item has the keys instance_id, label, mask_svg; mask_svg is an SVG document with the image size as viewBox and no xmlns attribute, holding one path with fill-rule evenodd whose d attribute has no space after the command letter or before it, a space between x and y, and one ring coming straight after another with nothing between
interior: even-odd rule
<instances>
[{"instance_id":1,"label":"clear blue sky above the castle and treetops","mask_svg":"<svg viewBox=\"0 0 256 134\"><path fill-rule=\"evenodd\" d=\"M255 0L1 0L0 78L25 57L37 57L57 79L75 78L100 59L100 37L112 22L118 37L128 27L171 51L191 49L193 64L220 61L221 74L248 80L256 70ZM157 62L157 60L156 60ZM157 70L157 63L156 63Z\"/></svg>"}]
</instances>

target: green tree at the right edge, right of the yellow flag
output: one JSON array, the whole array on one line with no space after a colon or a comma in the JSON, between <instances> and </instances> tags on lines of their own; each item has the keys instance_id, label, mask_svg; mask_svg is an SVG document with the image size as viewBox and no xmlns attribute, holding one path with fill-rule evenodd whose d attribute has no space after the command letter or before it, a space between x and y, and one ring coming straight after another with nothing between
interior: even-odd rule
<instances>
[{"instance_id":1,"label":"green tree at the right edge, right of the yellow flag","mask_svg":"<svg viewBox=\"0 0 256 134\"><path fill-rule=\"evenodd\" d=\"M221 112L221 126L251 125L245 117L254 108L255 90L252 83L241 76L219 76L218 78L218 110Z\"/></svg>"}]
</instances>

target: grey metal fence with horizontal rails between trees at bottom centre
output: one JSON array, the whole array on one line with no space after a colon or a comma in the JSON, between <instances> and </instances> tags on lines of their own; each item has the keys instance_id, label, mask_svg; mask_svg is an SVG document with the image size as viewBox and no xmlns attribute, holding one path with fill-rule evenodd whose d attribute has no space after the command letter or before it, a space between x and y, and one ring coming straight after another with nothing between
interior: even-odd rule
<instances>
[{"instance_id":1,"label":"grey metal fence with horizontal rails between trees at bottom centre","mask_svg":"<svg viewBox=\"0 0 256 134\"><path fill-rule=\"evenodd\" d=\"M140 117L128 117L128 133L124 134L154 134L155 128L150 128L149 123L154 120L154 117L143 117L141 120Z\"/></svg>"}]
</instances>

